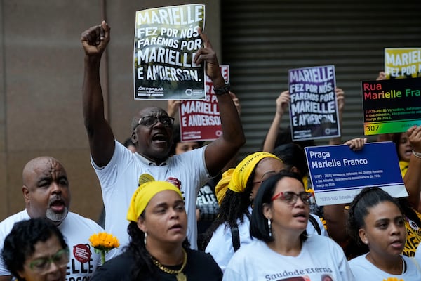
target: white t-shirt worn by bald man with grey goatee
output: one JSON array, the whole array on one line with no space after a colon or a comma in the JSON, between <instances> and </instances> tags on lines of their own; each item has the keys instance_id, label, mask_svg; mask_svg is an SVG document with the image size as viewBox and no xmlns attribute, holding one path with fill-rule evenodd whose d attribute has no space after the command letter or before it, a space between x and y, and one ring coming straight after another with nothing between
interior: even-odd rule
<instances>
[{"instance_id":1,"label":"white t-shirt worn by bald man with grey goatee","mask_svg":"<svg viewBox=\"0 0 421 281\"><path fill-rule=\"evenodd\" d=\"M18 221L28 220L30 217L25 210L20 211L0 223L0 249L3 250L4 239L11 233L13 225ZM93 247L89 244L89 237L94 233L100 233L104 230L95 221L84 218L78 214L69 212L64 221L58 226L62 235L65 237L69 247L70 260L67 264L66 280L88 280L93 275L98 265L100 265L100 254L95 253ZM111 253L111 252L110 252ZM107 259L114 256L107 255ZM11 275L0 259L0 275Z\"/></svg>"}]
</instances>

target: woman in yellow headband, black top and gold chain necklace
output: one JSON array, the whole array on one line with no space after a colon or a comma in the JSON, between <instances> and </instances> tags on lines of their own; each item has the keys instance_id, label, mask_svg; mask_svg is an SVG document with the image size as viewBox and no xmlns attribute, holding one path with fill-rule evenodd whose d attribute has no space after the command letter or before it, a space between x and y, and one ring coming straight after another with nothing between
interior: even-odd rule
<instances>
[{"instance_id":1,"label":"woman in yellow headband, black top and gold chain necklace","mask_svg":"<svg viewBox=\"0 0 421 281\"><path fill-rule=\"evenodd\" d=\"M185 203L172 183L142 183L133 194L127 219L128 247L97 270L91 281L222 280L210 254L189 249Z\"/></svg>"}]
</instances>

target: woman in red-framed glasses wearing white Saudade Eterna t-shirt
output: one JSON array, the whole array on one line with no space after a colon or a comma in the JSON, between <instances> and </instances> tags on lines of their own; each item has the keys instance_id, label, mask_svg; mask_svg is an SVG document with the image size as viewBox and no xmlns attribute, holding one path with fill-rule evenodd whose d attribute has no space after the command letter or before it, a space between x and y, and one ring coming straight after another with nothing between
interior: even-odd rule
<instances>
[{"instance_id":1,"label":"woman in red-framed glasses wearing white Saudade Eterna t-shirt","mask_svg":"<svg viewBox=\"0 0 421 281\"><path fill-rule=\"evenodd\" d=\"M281 171L258 190L250 219L253 242L234 254L223 280L354 280L338 244L307 235L311 193L301 178Z\"/></svg>"}]
</instances>

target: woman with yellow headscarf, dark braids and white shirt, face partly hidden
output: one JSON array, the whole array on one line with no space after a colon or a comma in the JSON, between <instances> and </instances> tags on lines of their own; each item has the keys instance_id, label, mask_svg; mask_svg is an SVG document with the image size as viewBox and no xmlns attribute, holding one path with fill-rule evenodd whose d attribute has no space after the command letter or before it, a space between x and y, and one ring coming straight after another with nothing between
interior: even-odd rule
<instances>
[{"instance_id":1,"label":"woman with yellow headscarf, dark braids and white shirt, face partly hidden","mask_svg":"<svg viewBox=\"0 0 421 281\"><path fill-rule=\"evenodd\" d=\"M244 158L234 169L222 174L215 192L220 209L208 229L208 246L222 270L234 251L251 242L250 214L253 198L260 184L284 169L282 160L269 152L255 152Z\"/></svg>"}]
</instances>

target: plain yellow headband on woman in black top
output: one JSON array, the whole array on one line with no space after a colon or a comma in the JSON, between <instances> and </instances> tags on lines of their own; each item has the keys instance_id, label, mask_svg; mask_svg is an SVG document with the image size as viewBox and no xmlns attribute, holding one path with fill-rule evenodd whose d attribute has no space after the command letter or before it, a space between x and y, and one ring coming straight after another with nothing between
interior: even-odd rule
<instances>
[{"instance_id":1,"label":"plain yellow headband on woman in black top","mask_svg":"<svg viewBox=\"0 0 421 281\"><path fill-rule=\"evenodd\" d=\"M128 221L137 222L139 216L145 211L145 208L152 197L164 190L173 190L182 198L180 190L172 183L168 183L168 181L149 181L147 183L142 183L138 189L135 190L131 198L130 206L127 211Z\"/></svg>"}]
</instances>

